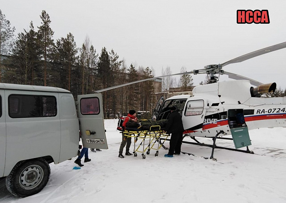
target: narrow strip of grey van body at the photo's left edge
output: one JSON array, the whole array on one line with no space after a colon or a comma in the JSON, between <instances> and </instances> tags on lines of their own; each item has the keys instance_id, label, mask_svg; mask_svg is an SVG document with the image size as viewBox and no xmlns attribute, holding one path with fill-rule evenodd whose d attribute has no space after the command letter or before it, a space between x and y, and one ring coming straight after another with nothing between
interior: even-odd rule
<instances>
[{"instance_id":1,"label":"narrow strip of grey van body at the photo's left edge","mask_svg":"<svg viewBox=\"0 0 286 203\"><path fill-rule=\"evenodd\" d=\"M6 155L6 123L5 123L5 96L0 89L0 177L4 174Z\"/></svg>"}]
</instances>

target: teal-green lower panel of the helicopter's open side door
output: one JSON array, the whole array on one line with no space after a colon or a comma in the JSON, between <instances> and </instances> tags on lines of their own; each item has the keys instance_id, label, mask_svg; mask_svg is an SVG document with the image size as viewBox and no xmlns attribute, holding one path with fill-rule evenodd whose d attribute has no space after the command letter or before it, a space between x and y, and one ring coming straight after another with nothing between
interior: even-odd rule
<instances>
[{"instance_id":1,"label":"teal-green lower panel of the helicopter's open side door","mask_svg":"<svg viewBox=\"0 0 286 203\"><path fill-rule=\"evenodd\" d=\"M230 131L236 149L251 145L247 127L234 128Z\"/></svg>"}]
</instances>

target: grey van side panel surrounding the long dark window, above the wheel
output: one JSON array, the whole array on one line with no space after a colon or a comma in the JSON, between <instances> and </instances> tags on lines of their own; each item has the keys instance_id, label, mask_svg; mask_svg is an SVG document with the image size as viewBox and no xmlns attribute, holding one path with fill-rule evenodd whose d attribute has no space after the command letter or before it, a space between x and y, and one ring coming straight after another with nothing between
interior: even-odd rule
<instances>
[{"instance_id":1,"label":"grey van side panel surrounding the long dark window, above the wheel","mask_svg":"<svg viewBox=\"0 0 286 203\"><path fill-rule=\"evenodd\" d=\"M45 95L56 98L57 113L48 117L19 117L9 116L9 101L11 94ZM23 105L23 106L21 106ZM18 108L29 108L26 103L20 103ZM61 146L59 93L41 91L5 90L6 115L6 160L4 176L8 175L18 161L51 156L54 162L59 162Z\"/></svg>"}]
</instances>

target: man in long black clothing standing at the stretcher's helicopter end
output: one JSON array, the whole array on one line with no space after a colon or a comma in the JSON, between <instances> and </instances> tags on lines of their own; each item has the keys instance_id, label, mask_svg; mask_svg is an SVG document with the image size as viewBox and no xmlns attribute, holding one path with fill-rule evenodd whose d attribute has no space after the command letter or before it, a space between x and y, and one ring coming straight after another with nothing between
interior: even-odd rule
<instances>
[{"instance_id":1,"label":"man in long black clothing standing at the stretcher's helicopter end","mask_svg":"<svg viewBox=\"0 0 286 203\"><path fill-rule=\"evenodd\" d=\"M165 131L172 135L170 139L169 152L168 154L165 154L165 157L173 157L174 154L180 155L184 131L182 116L176 111L175 106L172 106L170 110L171 114L169 115Z\"/></svg>"}]
</instances>

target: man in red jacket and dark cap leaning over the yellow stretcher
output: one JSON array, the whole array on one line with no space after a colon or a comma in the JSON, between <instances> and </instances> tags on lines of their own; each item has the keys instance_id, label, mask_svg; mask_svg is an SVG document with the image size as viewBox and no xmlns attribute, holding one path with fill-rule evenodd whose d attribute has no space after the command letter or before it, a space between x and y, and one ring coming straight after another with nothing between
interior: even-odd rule
<instances>
[{"instance_id":1,"label":"man in red jacket and dark cap leaning over the yellow stretcher","mask_svg":"<svg viewBox=\"0 0 286 203\"><path fill-rule=\"evenodd\" d=\"M125 119L123 121L123 124L122 124L123 131L126 128L126 123L129 122L129 121L133 121L133 122L137 122L138 121L138 119L136 117L136 111L135 110L130 110L128 115L125 117ZM118 155L119 158L124 158L122 153L123 153L123 148L125 147L125 145L126 145L125 155L127 155L127 156L132 155L129 152L129 148L130 148L130 145L131 145L131 137L126 137L124 135L124 132L122 132L122 142L121 142L121 145L120 145L120 148L119 148L119 155Z\"/></svg>"}]
</instances>

